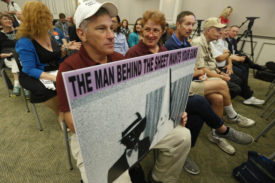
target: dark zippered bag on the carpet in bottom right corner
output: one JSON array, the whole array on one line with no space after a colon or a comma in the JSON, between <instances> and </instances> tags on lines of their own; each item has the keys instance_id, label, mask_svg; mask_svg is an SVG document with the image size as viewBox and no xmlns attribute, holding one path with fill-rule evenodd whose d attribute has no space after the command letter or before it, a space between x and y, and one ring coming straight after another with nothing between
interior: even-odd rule
<instances>
[{"instance_id":1,"label":"dark zippered bag on the carpet in bottom right corner","mask_svg":"<svg viewBox=\"0 0 275 183\"><path fill-rule=\"evenodd\" d=\"M255 151L248 151L247 162L234 168L232 173L242 183L274 183L275 162Z\"/></svg>"}]
</instances>

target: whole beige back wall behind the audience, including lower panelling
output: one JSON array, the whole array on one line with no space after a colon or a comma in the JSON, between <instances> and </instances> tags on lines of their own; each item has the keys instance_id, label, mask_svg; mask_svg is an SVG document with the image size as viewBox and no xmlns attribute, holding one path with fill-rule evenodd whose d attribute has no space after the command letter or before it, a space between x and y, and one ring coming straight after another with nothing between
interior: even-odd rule
<instances>
[{"instance_id":1,"label":"whole beige back wall behind the audience, including lower panelling","mask_svg":"<svg viewBox=\"0 0 275 183\"><path fill-rule=\"evenodd\" d=\"M77 0L38 0L45 3L50 11L54 14L54 18L58 19L60 12L66 15L72 15L77 6ZM107 0L98 0L103 3ZM167 22L175 22L176 15L180 11L189 10L196 15L196 19L207 19L209 17L219 17L223 9L227 6L233 7L233 12L229 17L230 25L241 25L246 20L245 17L260 17L256 19L252 27L253 45L254 45L254 61L259 64L264 64L267 61L275 61L275 21L272 19L275 0L108 0L117 5L119 9L120 19L127 19L129 24L134 24L136 19L142 17L142 13L148 9L162 8L162 12L166 15ZM27 0L15 1L22 8ZM0 11L6 11L6 3L0 2ZM65 3L65 5L64 5ZM202 22L202 26L203 26ZM247 29L246 22L239 33L243 33ZM133 25L129 25L133 28ZM194 27L197 28L197 24ZM194 30L195 30L194 29ZM265 36L257 36L265 35ZM194 38L197 36L194 36ZM244 52L251 53L250 42L245 44ZM241 42L238 47L241 46Z\"/></svg>"}]
</instances>

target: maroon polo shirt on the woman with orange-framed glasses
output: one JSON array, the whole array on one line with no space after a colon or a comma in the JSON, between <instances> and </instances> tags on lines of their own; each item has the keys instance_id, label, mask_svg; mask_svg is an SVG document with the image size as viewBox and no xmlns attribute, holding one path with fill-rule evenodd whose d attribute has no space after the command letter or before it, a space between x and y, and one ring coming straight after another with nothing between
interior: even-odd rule
<instances>
[{"instance_id":1,"label":"maroon polo shirt on the woman with orange-framed glasses","mask_svg":"<svg viewBox=\"0 0 275 183\"><path fill-rule=\"evenodd\" d=\"M158 50L158 53L167 51L167 49L164 46L160 45L160 43L158 43L158 47L160 48ZM141 39L139 43L137 43L127 51L127 53L125 54L125 57L128 59L128 58L140 57L140 56L151 55L151 54L154 54L154 53L148 49L148 47L144 44L144 42Z\"/></svg>"}]
</instances>

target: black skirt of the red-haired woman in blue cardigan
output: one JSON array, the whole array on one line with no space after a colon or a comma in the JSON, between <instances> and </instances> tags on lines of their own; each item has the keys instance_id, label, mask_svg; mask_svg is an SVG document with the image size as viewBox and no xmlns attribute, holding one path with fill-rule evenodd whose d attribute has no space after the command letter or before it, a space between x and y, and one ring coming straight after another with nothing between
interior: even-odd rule
<instances>
[{"instance_id":1,"label":"black skirt of the red-haired woman in blue cardigan","mask_svg":"<svg viewBox=\"0 0 275 183\"><path fill-rule=\"evenodd\" d=\"M31 92L31 103L45 102L57 95L56 90L46 88L39 79L31 77L23 71L20 72L19 83L24 89Z\"/></svg>"}]
</instances>

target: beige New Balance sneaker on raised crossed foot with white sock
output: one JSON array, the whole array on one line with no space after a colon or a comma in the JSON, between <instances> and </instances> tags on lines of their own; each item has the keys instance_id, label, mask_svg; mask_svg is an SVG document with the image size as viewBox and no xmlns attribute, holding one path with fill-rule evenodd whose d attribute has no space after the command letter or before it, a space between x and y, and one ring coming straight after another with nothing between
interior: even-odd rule
<instances>
[{"instance_id":1,"label":"beige New Balance sneaker on raised crossed foot with white sock","mask_svg":"<svg viewBox=\"0 0 275 183\"><path fill-rule=\"evenodd\" d=\"M237 114L236 118L229 119L227 115L223 116L223 121L229 124L236 124L242 128L251 128L255 126L256 122L254 120L245 118L240 114Z\"/></svg>"}]
</instances>

